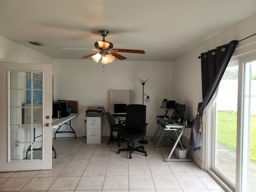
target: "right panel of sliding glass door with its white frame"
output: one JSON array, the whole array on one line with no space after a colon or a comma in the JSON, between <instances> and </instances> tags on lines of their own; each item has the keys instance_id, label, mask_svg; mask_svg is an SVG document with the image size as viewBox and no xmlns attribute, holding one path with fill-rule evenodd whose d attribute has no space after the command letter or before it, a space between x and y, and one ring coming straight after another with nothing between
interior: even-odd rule
<instances>
[{"instance_id":1,"label":"right panel of sliding glass door with its white frame","mask_svg":"<svg viewBox=\"0 0 256 192\"><path fill-rule=\"evenodd\" d=\"M250 60L251 59L251 60ZM236 190L254 192L256 188L256 58L240 60L242 68L242 97L239 110L238 156Z\"/></svg>"}]
</instances>

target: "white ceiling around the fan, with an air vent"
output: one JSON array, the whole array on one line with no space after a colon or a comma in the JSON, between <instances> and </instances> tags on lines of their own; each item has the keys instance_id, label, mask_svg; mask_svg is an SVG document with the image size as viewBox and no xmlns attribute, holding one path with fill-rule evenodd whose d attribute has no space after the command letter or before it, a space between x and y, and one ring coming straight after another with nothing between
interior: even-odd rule
<instances>
[{"instance_id":1,"label":"white ceiling around the fan, with an air vent","mask_svg":"<svg viewBox=\"0 0 256 192\"><path fill-rule=\"evenodd\" d=\"M80 59L93 51L61 48L94 48L103 29L114 48L146 51L126 60L170 61L254 13L256 0L0 0L0 35Z\"/></svg>"}]
</instances>

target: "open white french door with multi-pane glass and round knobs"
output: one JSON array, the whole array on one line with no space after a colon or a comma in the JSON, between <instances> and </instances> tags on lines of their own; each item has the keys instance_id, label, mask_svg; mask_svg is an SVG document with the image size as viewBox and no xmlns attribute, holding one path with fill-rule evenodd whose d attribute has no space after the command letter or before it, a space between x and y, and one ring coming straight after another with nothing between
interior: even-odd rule
<instances>
[{"instance_id":1,"label":"open white french door with multi-pane glass and round knobs","mask_svg":"<svg viewBox=\"0 0 256 192\"><path fill-rule=\"evenodd\" d=\"M0 67L0 171L51 169L52 65Z\"/></svg>"}]
</instances>

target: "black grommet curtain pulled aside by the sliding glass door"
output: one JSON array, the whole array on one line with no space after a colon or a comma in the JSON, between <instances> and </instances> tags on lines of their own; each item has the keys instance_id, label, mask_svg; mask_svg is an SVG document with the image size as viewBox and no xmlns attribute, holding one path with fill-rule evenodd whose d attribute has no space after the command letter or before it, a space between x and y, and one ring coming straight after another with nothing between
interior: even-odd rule
<instances>
[{"instance_id":1,"label":"black grommet curtain pulled aside by the sliding glass door","mask_svg":"<svg viewBox=\"0 0 256 192\"><path fill-rule=\"evenodd\" d=\"M202 116L204 109L212 99L237 44L238 41L233 40L229 44L219 46L206 53L201 53L203 102L198 104L198 114L194 118L192 125L189 141L190 150L192 151L200 149Z\"/></svg>"}]
</instances>

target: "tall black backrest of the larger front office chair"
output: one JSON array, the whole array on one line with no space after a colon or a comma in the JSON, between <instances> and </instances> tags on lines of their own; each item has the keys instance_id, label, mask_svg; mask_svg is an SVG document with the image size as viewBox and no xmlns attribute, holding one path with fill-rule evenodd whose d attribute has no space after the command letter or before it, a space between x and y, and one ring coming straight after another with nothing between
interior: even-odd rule
<instances>
[{"instance_id":1,"label":"tall black backrest of the larger front office chair","mask_svg":"<svg viewBox=\"0 0 256 192\"><path fill-rule=\"evenodd\" d=\"M125 128L129 130L143 130L146 124L146 105L130 104L126 108Z\"/></svg>"}]
</instances>

